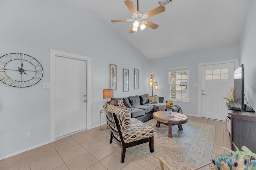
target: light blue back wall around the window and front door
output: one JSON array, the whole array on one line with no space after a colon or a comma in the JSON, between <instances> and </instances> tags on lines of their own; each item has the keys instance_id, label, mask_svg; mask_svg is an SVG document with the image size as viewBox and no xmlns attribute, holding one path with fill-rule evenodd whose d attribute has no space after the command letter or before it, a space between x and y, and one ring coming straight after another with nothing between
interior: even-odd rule
<instances>
[{"instance_id":1,"label":"light blue back wall around the window and front door","mask_svg":"<svg viewBox=\"0 0 256 170\"><path fill-rule=\"evenodd\" d=\"M182 111L185 114L197 116L198 87L194 86L194 83L198 82L198 63L239 59L239 55L239 45L234 44L150 60L150 74L154 74L154 81L157 81L159 86L154 94L168 99L167 69L189 66L190 102L175 102L175 104L182 106Z\"/></svg>"}]
</instances>

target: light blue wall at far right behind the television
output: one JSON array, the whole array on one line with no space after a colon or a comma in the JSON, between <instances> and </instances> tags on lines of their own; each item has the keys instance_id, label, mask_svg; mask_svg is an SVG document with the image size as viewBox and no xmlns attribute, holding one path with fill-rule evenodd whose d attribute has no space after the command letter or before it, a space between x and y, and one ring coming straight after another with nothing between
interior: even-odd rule
<instances>
[{"instance_id":1,"label":"light blue wall at far right behind the television","mask_svg":"<svg viewBox=\"0 0 256 170\"><path fill-rule=\"evenodd\" d=\"M240 42L240 64L244 64L244 94L252 108L256 109L256 0L248 8Z\"/></svg>"}]
</instances>

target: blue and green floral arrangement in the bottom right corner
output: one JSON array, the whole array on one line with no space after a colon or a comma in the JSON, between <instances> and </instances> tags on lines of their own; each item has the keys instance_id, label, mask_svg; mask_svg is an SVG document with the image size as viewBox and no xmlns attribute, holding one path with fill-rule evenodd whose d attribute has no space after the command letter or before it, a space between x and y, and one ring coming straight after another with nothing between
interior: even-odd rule
<instances>
[{"instance_id":1,"label":"blue and green floral arrangement in the bottom right corner","mask_svg":"<svg viewBox=\"0 0 256 170\"><path fill-rule=\"evenodd\" d=\"M244 151L240 151L236 145L234 147L237 150L236 152L222 147L232 153L232 155L220 154L216 156L218 159L212 159L214 170L256 170L256 160L251 159L256 159L256 154L252 153L245 146L241 148Z\"/></svg>"}]
</instances>

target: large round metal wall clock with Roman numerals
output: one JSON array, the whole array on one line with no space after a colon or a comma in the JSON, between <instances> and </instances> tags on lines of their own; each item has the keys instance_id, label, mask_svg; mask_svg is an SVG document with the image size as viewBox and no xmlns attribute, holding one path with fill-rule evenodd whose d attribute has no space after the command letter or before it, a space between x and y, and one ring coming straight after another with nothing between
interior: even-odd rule
<instances>
[{"instance_id":1,"label":"large round metal wall clock with Roman numerals","mask_svg":"<svg viewBox=\"0 0 256 170\"><path fill-rule=\"evenodd\" d=\"M8 86L34 86L42 79L43 74L42 65L30 55L9 53L0 57L0 81Z\"/></svg>"}]
</instances>

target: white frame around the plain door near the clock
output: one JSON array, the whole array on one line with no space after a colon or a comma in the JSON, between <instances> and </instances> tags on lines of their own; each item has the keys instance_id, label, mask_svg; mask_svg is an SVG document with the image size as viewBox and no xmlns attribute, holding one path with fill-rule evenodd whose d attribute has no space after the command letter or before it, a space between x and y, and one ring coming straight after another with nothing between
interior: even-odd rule
<instances>
[{"instance_id":1,"label":"white frame around the plain door near the clock","mask_svg":"<svg viewBox=\"0 0 256 170\"><path fill-rule=\"evenodd\" d=\"M79 59L82 61L86 61L86 95L87 95L87 129L91 129L92 127L92 115L91 115L91 58L67 53L64 51L57 51L50 49L50 140L51 142L56 141L56 89L55 89L55 57L67 57L71 59Z\"/></svg>"}]
</instances>

